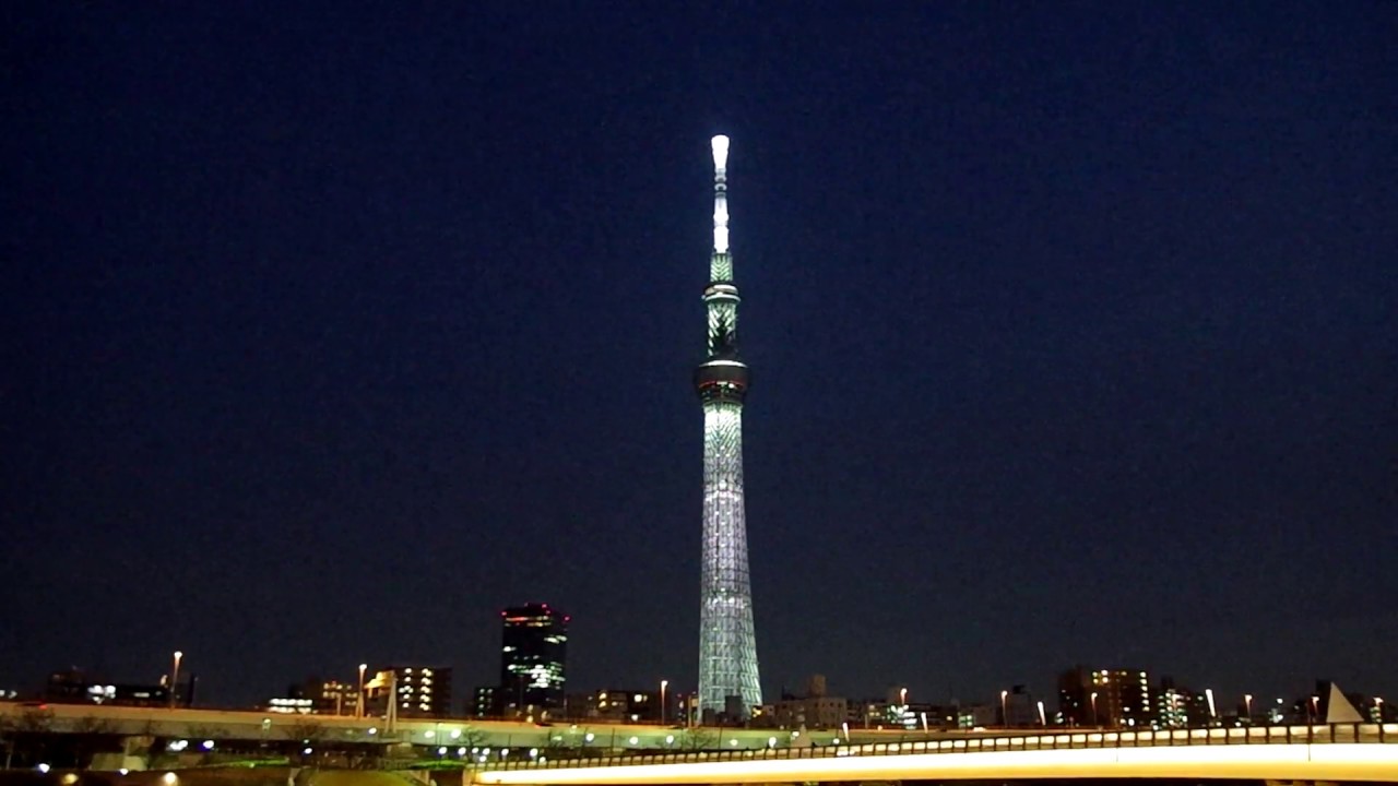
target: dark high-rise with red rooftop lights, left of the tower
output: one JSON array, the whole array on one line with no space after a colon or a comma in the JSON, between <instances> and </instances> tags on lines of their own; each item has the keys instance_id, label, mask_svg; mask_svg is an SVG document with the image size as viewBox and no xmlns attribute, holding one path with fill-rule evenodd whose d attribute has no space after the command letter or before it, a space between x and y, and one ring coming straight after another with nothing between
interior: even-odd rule
<instances>
[{"instance_id":1,"label":"dark high-rise with red rooftop lights, left of the tower","mask_svg":"<svg viewBox=\"0 0 1398 786\"><path fill-rule=\"evenodd\" d=\"M500 618L502 713L562 709L569 617L547 603L528 603L500 611Z\"/></svg>"}]
</instances>

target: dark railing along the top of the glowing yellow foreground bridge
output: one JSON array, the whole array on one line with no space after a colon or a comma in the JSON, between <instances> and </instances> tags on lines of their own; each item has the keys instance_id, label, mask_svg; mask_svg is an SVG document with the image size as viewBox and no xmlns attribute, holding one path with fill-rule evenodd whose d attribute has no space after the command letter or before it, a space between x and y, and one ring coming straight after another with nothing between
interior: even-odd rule
<instances>
[{"instance_id":1,"label":"dark railing along the top of the glowing yellow foreground bridge","mask_svg":"<svg viewBox=\"0 0 1398 786\"><path fill-rule=\"evenodd\" d=\"M700 764L724 761L808 759L865 755L973 754L988 751L1053 751L1068 748L1144 748L1160 745L1267 745L1398 743L1398 723L1328 723L1324 726L1251 726L1239 729L1163 729L1158 731L1046 731L1014 737L911 740L790 748L741 748L731 751L636 751L589 758L528 758L492 762L484 771L572 769L647 764Z\"/></svg>"}]
</instances>

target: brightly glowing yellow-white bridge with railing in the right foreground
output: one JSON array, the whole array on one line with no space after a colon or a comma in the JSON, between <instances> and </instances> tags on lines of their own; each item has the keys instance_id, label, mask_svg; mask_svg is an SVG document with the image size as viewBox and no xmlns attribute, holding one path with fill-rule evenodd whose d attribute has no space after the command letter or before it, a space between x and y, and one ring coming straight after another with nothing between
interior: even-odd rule
<instances>
[{"instance_id":1,"label":"brightly glowing yellow-white bridge with railing in the right foreground","mask_svg":"<svg viewBox=\"0 0 1398 786\"><path fill-rule=\"evenodd\" d=\"M487 786L861 780L1253 779L1398 783L1398 724L1065 731L547 761L471 773Z\"/></svg>"}]
</instances>

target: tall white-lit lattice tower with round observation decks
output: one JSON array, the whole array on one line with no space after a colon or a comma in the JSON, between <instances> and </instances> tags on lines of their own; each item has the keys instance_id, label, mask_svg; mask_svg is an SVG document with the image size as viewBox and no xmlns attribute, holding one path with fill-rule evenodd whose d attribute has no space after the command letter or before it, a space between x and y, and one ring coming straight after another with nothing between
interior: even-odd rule
<instances>
[{"instance_id":1,"label":"tall white-lit lattice tower with round observation decks","mask_svg":"<svg viewBox=\"0 0 1398 786\"><path fill-rule=\"evenodd\" d=\"M703 403L703 585L699 606L699 709L741 715L762 703L752 632L748 530L742 503L742 397L748 366L738 359L738 287L728 255L728 137L713 137L713 256L703 292L709 357L695 369Z\"/></svg>"}]
</instances>

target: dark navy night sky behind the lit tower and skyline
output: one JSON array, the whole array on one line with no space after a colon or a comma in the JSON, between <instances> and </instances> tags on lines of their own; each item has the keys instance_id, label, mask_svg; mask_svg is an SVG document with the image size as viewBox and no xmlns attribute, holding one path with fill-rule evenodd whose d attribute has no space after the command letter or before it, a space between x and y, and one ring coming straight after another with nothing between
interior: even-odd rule
<instances>
[{"instance_id":1,"label":"dark navy night sky behind the lit tower and skyline","mask_svg":"<svg viewBox=\"0 0 1398 786\"><path fill-rule=\"evenodd\" d=\"M0 687L692 689L726 133L770 698L1398 694L1398 4L1213 6L7 4Z\"/></svg>"}]
</instances>

